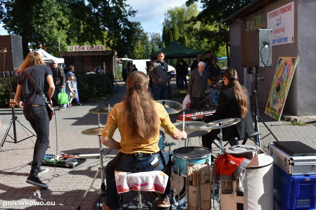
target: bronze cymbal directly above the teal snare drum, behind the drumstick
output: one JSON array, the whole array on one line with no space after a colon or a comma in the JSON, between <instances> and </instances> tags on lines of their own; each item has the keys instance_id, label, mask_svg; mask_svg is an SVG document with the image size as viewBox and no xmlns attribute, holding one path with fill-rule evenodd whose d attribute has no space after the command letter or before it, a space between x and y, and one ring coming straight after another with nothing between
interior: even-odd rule
<instances>
[{"instance_id":1,"label":"bronze cymbal directly above the teal snare drum, behind the drumstick","mask_svg":"<svg viewBox=\"0 0 316 210\"><path fill-rule=\"evenodd\" d=\"M184 121L184 131L189 138L205 135L211 131L210 128L201 129L201 126L205 125L205 122L200 121ZM180 131L183 131L183 122L173 123Z\"/></svg>"}]
</instances>

